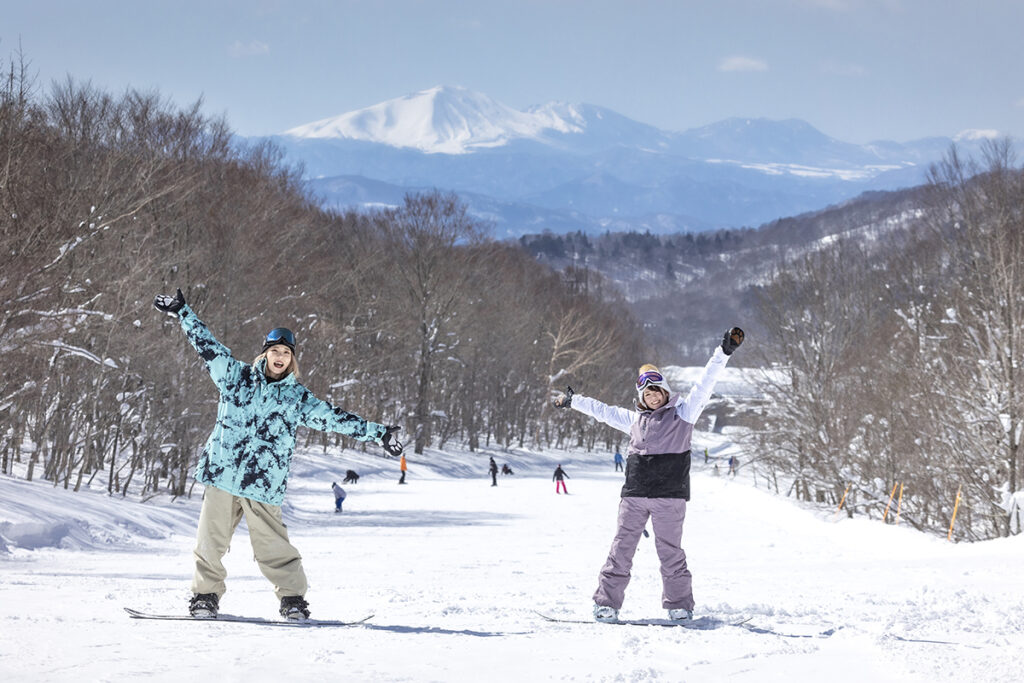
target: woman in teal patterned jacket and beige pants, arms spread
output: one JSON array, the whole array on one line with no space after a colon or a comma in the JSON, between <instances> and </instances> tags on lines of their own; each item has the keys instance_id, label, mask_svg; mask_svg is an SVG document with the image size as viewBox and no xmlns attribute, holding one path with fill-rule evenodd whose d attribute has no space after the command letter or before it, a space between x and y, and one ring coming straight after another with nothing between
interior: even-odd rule
<instances>
[{"instance_id":1,"label":"woman in teal patterned jacket and beige pants, arms spread","mask_svg":"<svg viewBox=\"0 0 1024 683\"><path fill-rule=\"evenodd\" d=\"M220 391L217 424L196 468L206 487L196 541L196 572L188 611L217 615L227 571L221 559L245 516L256 563L270 580L287 618L309 616L306 574L299 551L288 540L281 504L288 485L289 464L300 426L375 441L399 455L398 427L368 422L312 395L299 384L295 335L271 330L252 364L231 357L196 313L181 290L159 295L154 306L178 318L181 329Z\"/></svg>"}]
</instances>

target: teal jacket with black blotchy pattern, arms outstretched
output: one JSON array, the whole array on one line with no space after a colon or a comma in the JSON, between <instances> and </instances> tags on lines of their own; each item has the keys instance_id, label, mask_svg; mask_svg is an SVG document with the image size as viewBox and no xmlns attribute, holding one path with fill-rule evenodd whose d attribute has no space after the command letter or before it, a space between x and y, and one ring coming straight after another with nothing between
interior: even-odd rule
<instances>
[{"instance_id":1,"label":"teal jacket with black blotchy pattern, arms outstretched","mask_svg":"<svg viewBox=\"0 0 1024 683\"><path fill-rule=\"evenodd\" d=\"M253 366L231 357L188 306L178 311L181 328L199 351L220 390L217 425L196 467L196 479L234 496L281 505L300 426L333 431L380 443L384 425L321 400L295 375L276 382Z\"/></svg>"}]
</instances>

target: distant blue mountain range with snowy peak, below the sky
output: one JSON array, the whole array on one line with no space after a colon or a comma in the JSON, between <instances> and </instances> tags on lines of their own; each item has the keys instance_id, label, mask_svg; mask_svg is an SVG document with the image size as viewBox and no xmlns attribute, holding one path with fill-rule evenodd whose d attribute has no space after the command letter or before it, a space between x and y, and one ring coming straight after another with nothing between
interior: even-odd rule
<instances>
[{"instance_id":1,"label":"distant blue mountain range with snowy peak, below the sky","mask_svg":"<svg viewBox=\"0 0 1024 683\"><path fill-rule=\"evenodd\" d=\"M550 230L652 233L756 226L865 190L924 181L956 142L844 142L791 119L665 131L593 104L514 110L441 86L272 136L331 208L455 191L497 238Z\"/></svg>"}]
</instances>

